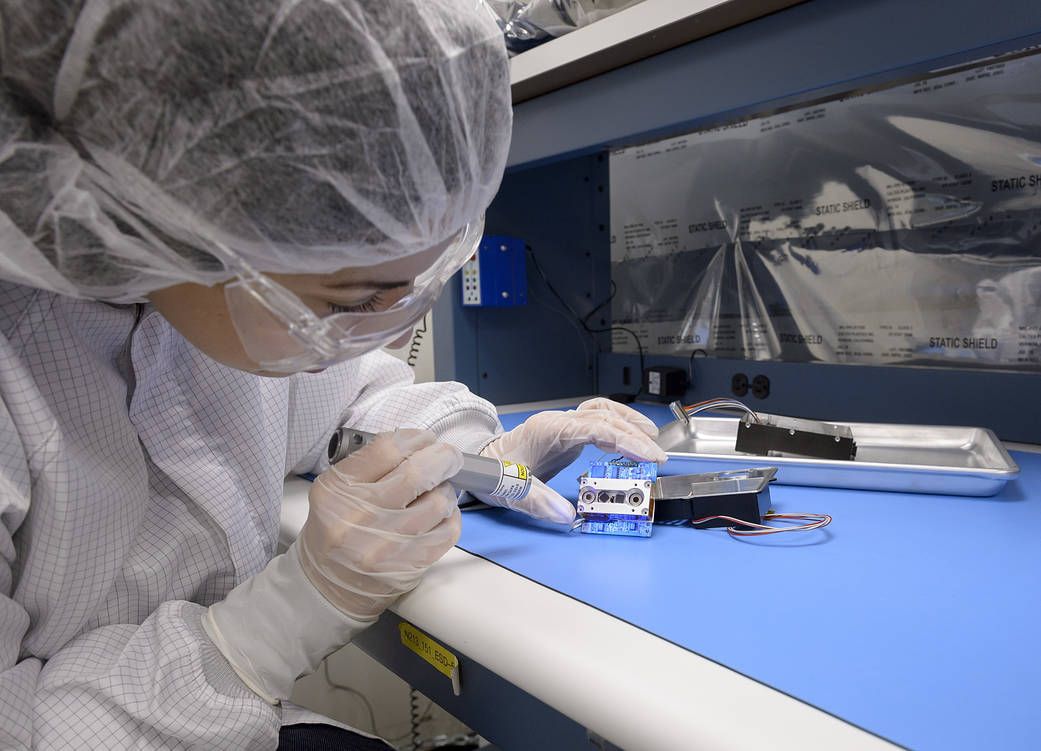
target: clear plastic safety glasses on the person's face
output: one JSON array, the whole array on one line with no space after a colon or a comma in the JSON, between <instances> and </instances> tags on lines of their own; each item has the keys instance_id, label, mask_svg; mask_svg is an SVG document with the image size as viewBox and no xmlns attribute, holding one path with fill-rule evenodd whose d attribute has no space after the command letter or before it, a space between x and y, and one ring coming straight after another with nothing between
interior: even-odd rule
<instances>
[{"instance_id":1,"label":"clear plastic safety glasses on the person's face","mask_svg":"<svg viewBox=\"0 0 1041 751\"><path fill-rule=\"evenodd\" d=\"M409 331L445 283L477 252L484 220L465 228L412 289L383 310L319 316L278 282L252 270L224 287L231 321L250 358L272 373L326 368L384 347Z\"/></svg>"}]
</instances>

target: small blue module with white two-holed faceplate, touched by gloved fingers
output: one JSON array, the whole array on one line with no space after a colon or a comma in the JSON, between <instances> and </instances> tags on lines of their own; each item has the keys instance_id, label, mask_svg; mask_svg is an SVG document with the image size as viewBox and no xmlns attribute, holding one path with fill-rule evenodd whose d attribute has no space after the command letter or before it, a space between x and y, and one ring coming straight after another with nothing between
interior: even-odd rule
<instances>
[{"instance_id":1,"label":"small blue module with white two-holed faceplate, touched by gloved fingers","mask_svg":"<svg viewBox=\"0 0 1041 751\"><path fill-rule=\"evenodd\" d=\"M657 479L658 465L653 461L593 461L579 478L575 528L586 534L650 537Z\"/></svg>"}]
</instances>

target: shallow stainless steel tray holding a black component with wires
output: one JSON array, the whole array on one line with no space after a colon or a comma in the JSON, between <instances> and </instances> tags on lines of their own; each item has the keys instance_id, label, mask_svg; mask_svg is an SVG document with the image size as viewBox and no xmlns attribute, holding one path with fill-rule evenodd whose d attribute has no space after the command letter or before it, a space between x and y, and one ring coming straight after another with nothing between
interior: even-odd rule
<instances>
[{"instance_id":1,"label":"shallow stainless steel tray holding a black component with wires","mask_svg":"<svg viewBox=\"0 0 1041 751\"><path fill-rule=\"evenodd\" d=\"M737 453L737 423L732 418L691 418L666 425L658 436L669 457L664 472L777 467L777 481L787 485L955 496L993 496L1019 476L1009 452L985 428L838 423L853 430L857 459L836 461Z\"/></svg>"}]
</instances>

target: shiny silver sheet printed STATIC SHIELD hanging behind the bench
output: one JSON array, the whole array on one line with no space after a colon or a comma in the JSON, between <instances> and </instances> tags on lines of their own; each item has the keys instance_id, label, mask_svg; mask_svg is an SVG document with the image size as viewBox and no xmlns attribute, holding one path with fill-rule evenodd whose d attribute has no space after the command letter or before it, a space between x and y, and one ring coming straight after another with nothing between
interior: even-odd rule
<instances>
[{"instance_id":1,"label":"shiny silver sheet printed STATIC SHIELD hanging behind the bench","mask_svg":"<svg viewBox=\"0 0 1041 751\"><path fill-rule=\"evenodd\" d=\"M613 152L614 325L650 354L1041 370L1039 108L1035 52Z\"/></svg>"}]
</instances>

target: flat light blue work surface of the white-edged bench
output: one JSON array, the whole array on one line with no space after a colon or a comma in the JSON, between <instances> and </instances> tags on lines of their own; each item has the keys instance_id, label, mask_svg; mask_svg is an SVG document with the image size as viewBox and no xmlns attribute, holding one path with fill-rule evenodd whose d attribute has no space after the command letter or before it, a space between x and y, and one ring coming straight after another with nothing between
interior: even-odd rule
<instances>
[{"instance_id":1,"label":"flat light blue work surface of the white-edged bench","mask_svg":"<svg viewBox=\"0 0 1041 751\"><path fill-rule=\"evenodd\" d=\"M550 484L574 500L601 455ZM834 517L816 532L564 534L492 509L464 516L459 547L893 743L1036 749L1041 454L1015 459L994 498L775 485L779 511Z\"/></svg>"}]
</instances>

